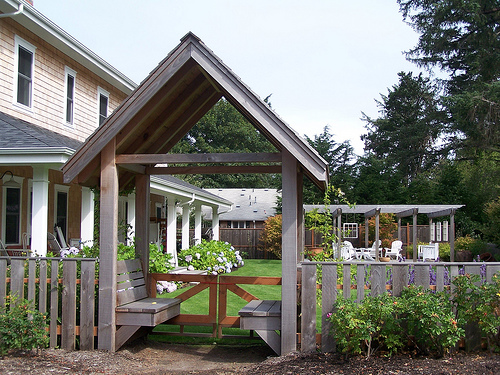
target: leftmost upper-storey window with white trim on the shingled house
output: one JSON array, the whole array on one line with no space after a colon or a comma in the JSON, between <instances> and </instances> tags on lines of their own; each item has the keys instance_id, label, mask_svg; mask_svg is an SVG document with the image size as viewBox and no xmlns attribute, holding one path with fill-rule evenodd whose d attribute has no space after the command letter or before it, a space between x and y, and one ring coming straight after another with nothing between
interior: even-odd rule
<instances>
[{"instance_id":1,"label":"leftmost upper-storey window with white trim on the shingled house","mask_svg":"<svg viewBox=\"0 0 500 375\"><path fill-rule=\"evenodd\" d=\"M15 37L14 87L15 103L31 108L33 98L33 71L35 63L35 47L25 40Z\"/></svg>"}]
</instances>

